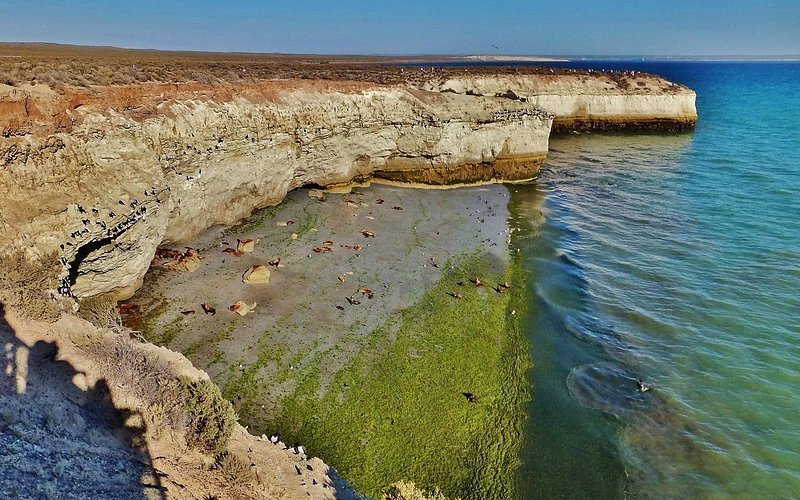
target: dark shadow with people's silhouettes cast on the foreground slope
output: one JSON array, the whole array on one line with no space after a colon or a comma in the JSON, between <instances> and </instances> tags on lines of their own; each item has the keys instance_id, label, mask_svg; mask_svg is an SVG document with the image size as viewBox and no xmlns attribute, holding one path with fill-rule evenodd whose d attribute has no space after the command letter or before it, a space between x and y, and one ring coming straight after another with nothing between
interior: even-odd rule
<instances>
[{"instance_id":1,"label":"dark shadow with people's silhouettes cast on the foreground slope","mask_svg":"<svg viewBox=\"0 0 800 500\"><path fill-rule=\"evenodd\" d=\"M164 499L141 415L116 408L105 379L27 345L0 302L0 490L14 498Z\"/></svg>"}]
</instances>

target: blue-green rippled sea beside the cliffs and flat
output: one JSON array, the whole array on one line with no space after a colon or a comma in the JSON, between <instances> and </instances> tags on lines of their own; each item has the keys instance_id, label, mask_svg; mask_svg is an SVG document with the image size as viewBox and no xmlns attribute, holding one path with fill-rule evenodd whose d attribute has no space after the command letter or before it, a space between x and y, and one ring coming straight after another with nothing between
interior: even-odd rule
<instances>
[{"instance_id":1,"label":"blue-green rippled sea beside the cliffs and flat","mask_svg":"<svg viewBox=\"0 0 800 500\"><path fill-rule=\"evenodd\" d=\"M800 496L800 64L566 65L686 84L699 121L553 138L511 186L534 302L520 498Z\"/></svg>"}]
</instances>

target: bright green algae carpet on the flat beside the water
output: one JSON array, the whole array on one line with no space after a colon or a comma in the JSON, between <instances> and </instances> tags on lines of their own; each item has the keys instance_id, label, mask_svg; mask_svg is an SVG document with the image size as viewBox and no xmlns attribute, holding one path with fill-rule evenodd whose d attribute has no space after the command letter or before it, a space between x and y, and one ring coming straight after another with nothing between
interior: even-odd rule
<instances>
[{"instance_id":1,"label":"bright green algae carpet on the flat beside the water","mask_svg":"<svg viewBox=\"0 0 800 500\"><path fill-rule=\"evenodd\" d=\"M491 287L518 280L518 263L490 271L485 256L463 259L364 339L322 395L325 358L316 356L279 413L261 423L304 443L367 495L407 480L449 497L512 496L528 399L528 350L516 320L524 297ZM475 276L486 286L470 283Z\"/></svg>"}]
</instances>

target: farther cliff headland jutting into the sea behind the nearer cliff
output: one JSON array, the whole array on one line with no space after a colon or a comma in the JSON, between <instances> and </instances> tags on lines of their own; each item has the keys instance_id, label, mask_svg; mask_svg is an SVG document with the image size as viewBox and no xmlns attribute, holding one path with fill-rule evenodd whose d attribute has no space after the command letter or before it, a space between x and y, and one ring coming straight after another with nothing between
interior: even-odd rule
<instances>
[{"instance_id":1,"label":"farther cliff headland jutting into the sea behind the nearer cliff","mask_svg":"<svg viewBox=\"0 0 800 500\"><path fill-rule=\"evenodd\" d=\"M554 132L683 131L697 121L694 91L637 72L450 77L425 88L532 103L555 115Z\"/></svg>"}]
</instances>

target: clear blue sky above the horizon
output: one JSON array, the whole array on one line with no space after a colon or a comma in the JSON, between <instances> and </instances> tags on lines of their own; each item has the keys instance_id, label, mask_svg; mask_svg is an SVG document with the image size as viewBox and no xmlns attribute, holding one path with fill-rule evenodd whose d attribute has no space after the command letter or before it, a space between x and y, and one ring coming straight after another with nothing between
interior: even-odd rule
<instances>
[{"instance_id":1,"label":"clear blue sky above the horizon","mask_svg":"<svg viewBox=\"0 0 800 500\"><path fill-rule=\"evenodd\" d=\"M0 41L326 54L797 55L800 0L0 0Z\"/></svg>"}]
</instances>

